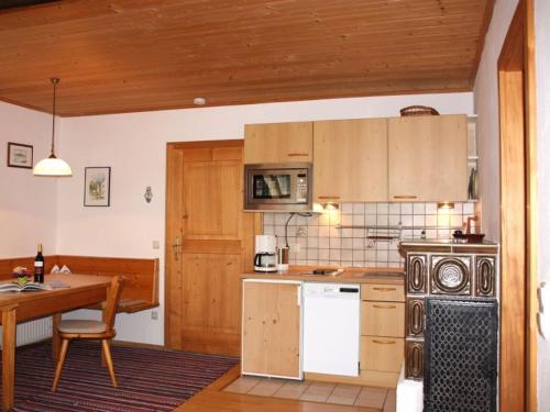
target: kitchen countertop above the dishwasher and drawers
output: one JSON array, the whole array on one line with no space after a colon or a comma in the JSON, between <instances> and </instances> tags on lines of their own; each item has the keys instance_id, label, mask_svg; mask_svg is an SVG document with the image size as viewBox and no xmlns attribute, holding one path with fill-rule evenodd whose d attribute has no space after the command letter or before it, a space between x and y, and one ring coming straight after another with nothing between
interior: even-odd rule
<instances>
[{"instance_id":1,"label":"kitchen countertop above the dishwasher and drawers","mask_svg":"<svg viewBox=\"0 0 550 412\"><path fill-rule=\"evenodd\" d=\"M282 272L257 272L250 271L241 275L241 279L270 279L270 280L300 280L322 282L352 282L352 283L383 283L403 285L405 275L400 268L350 268L344 269L338 276L332 275L304 275L312 270L312 267L290 267Z\"/></svg>"}]
</instances>

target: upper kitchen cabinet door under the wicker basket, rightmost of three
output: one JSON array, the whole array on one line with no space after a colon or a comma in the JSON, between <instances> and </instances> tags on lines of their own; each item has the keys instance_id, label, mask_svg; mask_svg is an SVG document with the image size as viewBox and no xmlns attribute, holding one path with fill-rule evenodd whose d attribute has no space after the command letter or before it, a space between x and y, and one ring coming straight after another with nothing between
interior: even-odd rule
<instances>
[{"instance_id":1,"label":"upper kitchen cabinet door under the wicker basket, rightmost of three","mask_svg":"<svg viewBox=\"0 0 550 412\"><path fill-rule=\"evenodd\" d=\"M466 131L460 114L389 119L389 200L468 200Z\"/></svg>"}]
</instances>

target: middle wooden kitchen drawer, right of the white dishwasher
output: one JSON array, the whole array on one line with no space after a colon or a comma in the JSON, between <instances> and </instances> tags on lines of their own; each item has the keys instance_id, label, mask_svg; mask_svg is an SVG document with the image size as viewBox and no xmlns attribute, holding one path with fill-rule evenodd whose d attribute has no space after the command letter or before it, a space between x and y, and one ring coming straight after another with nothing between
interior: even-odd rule
<instances>
[{"instance_id":1,"label":"middle wooden kitchen drawer, right of the white dishwasher","mask_svg":"<svg viewBox=\"0 0 550 412\"><path fill-rule=\"evenodd\" d=\"M405 337L405 303L361 302L361 334Z\"/></svg>"}]
</instances>

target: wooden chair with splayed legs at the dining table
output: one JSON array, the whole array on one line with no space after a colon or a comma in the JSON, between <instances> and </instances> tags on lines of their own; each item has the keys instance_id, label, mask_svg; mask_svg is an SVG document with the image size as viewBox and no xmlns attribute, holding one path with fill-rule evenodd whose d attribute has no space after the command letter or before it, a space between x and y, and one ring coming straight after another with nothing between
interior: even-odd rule
<instances>
[{"instance_id":1,"label":"wooden chair with splayed legs at the dining table","mask_svg":"<svg viewBox=\"0 0 550 412\"><path fill-rule=\"evenodd\" d=\"M52 386L53 392L57 389L57 382L62 375L68 344L72 339L101 339L103 357L107 363L107 367L109 368L112 386L117 388L117 378L114 377L114 368L112 366L109 345L110 339L117 334L117 331L114 330L114 316L117 315L117 308L119 305L121 291L122 279L119 276L116 276L111 280L102 322L89 320L65 320L59 322L57 332L59 334L59 338L62 339L62 345L57 359L57 366L55 368L54 383Z\"/></svg>"}]
</instances>

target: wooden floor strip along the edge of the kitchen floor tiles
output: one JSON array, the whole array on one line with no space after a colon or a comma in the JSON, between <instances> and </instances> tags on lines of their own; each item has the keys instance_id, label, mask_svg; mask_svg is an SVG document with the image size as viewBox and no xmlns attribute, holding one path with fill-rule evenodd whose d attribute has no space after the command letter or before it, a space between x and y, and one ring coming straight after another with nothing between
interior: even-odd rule
<instances>
[{"instance_id":1,"label":"wooden floor strip along the edge of the kitchen floor tiles","mask_svg":"<svg viewBox=\"0 0 550 412\"><path fill-rule=\"evenodd\" d=\"M383 412L382 408L319 403L224 391L241 375L239 366L197 393L175 412ZM395 405L393 407L395 411ZM387 411L387 409L384 409Z\"/></svg>"}]
</instances>

